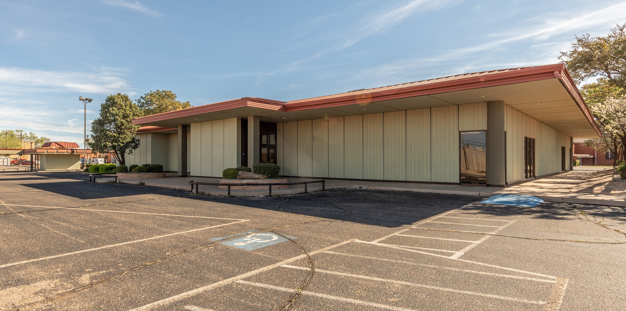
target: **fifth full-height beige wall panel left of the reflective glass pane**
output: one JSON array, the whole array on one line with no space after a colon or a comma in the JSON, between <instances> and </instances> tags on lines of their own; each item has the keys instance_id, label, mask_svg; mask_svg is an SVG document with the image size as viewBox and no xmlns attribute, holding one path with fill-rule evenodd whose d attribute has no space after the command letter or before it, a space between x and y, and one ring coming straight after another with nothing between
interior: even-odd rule
<instances>
[{"instance_id":1,"label":"fifth full-height beige wall panel left of the reflective glass pane","mask_svg":"<svg viewBox=\"0 0 626 311\"><path fill-rule=\"evenodd\" d=\"M363 179L363 116L344 117L344 178Z\"/></svg>"}]
</instances>

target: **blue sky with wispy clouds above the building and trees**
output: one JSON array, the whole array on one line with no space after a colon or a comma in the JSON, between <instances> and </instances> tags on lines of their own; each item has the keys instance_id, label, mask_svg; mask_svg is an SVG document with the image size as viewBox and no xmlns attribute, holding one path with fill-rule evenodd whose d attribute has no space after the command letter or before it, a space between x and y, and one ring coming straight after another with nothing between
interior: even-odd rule
<instances>
[{"instance_id":1,"label":"blue sky with wispy clouds above the building and trees","mask_svg":"<svg viewBox=\"0 0 626 311\"><path fill-rule=\"evenodd\" d=\"M89 124L117 92L290 101L552 64L625 22L605 0L0 0L0 129L81 142L78 96Z\"/></svg>"}]
</instances>

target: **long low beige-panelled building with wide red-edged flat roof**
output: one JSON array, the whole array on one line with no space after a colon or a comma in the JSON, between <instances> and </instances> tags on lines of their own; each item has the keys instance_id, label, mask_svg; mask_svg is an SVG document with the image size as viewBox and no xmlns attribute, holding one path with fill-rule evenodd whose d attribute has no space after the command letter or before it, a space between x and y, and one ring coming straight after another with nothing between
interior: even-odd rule
<instances>
[{"instance_id":1,"label":"long low beige-panelled building with wide red-edged flat roof","mask_svg":"<svg viewBox=\"0 0 626 311\"><path fill-rule=\"evenodd\" d=\"M483 71L299 101L244 97L133 120L126 164L220 177L281 175L503 187L573 168L600 131L563 64Z\"/></svg>"}]
</instances>

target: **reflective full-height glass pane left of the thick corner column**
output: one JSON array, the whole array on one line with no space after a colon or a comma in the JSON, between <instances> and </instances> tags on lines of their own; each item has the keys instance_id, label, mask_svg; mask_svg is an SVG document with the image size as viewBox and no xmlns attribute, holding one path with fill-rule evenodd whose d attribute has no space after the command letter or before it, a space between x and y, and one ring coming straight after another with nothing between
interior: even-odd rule
<instances>
[{"instance_id":1,"label":"reflective full-height glass pane left of the thick corner column","mask_svg":"<svg viewBox=\"0 0 626 311\"><path fill-rule=\"evenodd\" d=\"M486 132L460 133L461 184L487 184Z\"/></svg>"}]
</instances>

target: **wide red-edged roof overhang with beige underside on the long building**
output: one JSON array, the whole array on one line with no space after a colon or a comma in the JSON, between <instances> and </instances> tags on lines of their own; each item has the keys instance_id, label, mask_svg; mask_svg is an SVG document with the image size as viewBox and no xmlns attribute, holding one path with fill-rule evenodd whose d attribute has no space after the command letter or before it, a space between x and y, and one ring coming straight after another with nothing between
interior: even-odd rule
<instances>
[{"instance_id":1,"label":"wide red-edged roof overhang with beige underside on the long building","mask_svg":"<svg viewBox=\"0 0 626 311\"><path fill-rule=\"evenodd\" d=\"M488 101L504 101L570 137L600 136L564 64L475 72L290 102L244 97L140 117L133 124L173 128L250 115L264 122L287 122Z\"/></svg>"}]
</instances>

